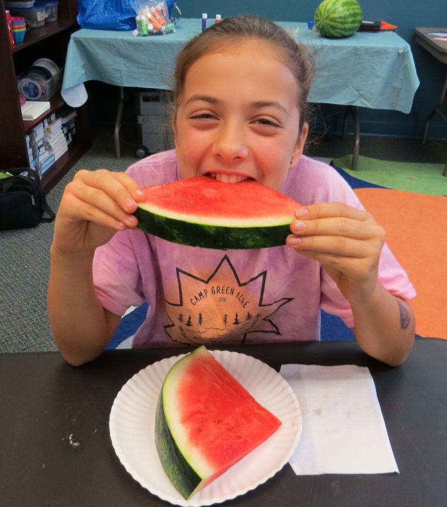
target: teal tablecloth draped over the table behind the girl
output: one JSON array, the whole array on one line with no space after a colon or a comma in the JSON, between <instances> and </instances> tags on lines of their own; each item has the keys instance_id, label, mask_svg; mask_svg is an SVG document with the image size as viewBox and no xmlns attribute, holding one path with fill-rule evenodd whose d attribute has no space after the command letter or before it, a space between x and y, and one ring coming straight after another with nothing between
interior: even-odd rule
<instances>
[{"instance_id":1,"label":"teal tablecloth draped over the table behind the girl","mask_svg":"<svg viewBox=\"0 0 447 507\"><path fill-rule=\"evenodd\" d=\"M326 39L306 23L278 22L310 47L316 75L309 101L409 113L419 86L410 45L395 32L357 32ZM176 33L134 37L131 31L81 29L71 35L62 96L74 106L86 81L117 86L171 88L175 57L201 30L200 19L180 19ZM70 89L71 88L71 89ZM70 89L70 90L67 90ZM87 95L80 101L85 101Z\"/></svg>"}]
</instances>

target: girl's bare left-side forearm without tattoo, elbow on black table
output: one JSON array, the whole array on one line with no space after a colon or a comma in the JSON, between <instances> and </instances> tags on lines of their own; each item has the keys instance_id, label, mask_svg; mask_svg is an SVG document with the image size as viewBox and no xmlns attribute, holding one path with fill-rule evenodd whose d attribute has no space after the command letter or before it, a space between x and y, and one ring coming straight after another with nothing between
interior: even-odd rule
<instances>
[{"instance_id":1,"label":"girl's bare left-side forearm without tattoo, elbow on black table","mask_svg":"<svg viewBox=\"0 0 447 507\"><path fill-rule=\"evenodd\" d=\"M48 315L61 354L74 366L99 356L113 332L95 293L92 261L93 253L70 258L51 251Z\"/></svg>"}]
</instances>

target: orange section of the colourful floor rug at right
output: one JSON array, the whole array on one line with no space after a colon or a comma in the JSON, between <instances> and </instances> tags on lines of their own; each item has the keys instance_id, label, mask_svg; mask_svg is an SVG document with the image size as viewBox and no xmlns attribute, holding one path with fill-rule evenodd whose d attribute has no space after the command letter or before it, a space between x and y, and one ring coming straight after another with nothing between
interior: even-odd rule
<instances>
[{"instance_id":1,"label":"orange section of the colourful floor rug at right","mask_svg":"<svg viewBox=\"0 0 447 507\"><path fill-rule=\"evenodd\" d=\"M389 247L416 288L416 333L447 339L447 197L376 188L354 192L385 227Z\"/></svg>"}]
</instances>

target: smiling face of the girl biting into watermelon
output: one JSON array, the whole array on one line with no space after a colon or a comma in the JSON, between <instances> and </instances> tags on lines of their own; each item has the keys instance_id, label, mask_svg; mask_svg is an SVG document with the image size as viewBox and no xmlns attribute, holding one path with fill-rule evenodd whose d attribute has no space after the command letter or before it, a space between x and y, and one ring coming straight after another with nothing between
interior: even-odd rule
<instances>
[{"instance_id":1,"label":"smiling face of the girl biting into watermelon","mask_svg":"<svg viewBox=\"0 0 447 507\"><path fill-rule=\"evenodd\" d=\"M299 133L297 97L292 71L266 43L232 44L199 58L173 118L182 178L253 178L279 190L307 136L307 125Z\"/></svg>"}]
</instances>

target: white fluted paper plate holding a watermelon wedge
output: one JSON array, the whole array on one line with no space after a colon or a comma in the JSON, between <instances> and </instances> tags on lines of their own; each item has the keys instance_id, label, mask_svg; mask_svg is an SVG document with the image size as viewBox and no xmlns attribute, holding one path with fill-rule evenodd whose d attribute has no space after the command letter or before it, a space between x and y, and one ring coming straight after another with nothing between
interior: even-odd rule
<instances>
[{"instance_id":1,"label":"white fluted paper plate holding a watermelon wedge","mask_svg":"<svg viewBox=\"0 0 447 507\"><path fill-rule=\"evenodd\" d=\"M288 462L301 436L301 409L286 380L251 356L226 350L211 353L282 424L269 439L189 500L165 474L154 441L158 394L170 368L185 354L158 361L134 375L118 392L110 412L110 437L121 463L144 488L176 505L211 505L256 488Z\"/></svg>"}]
</instances>

